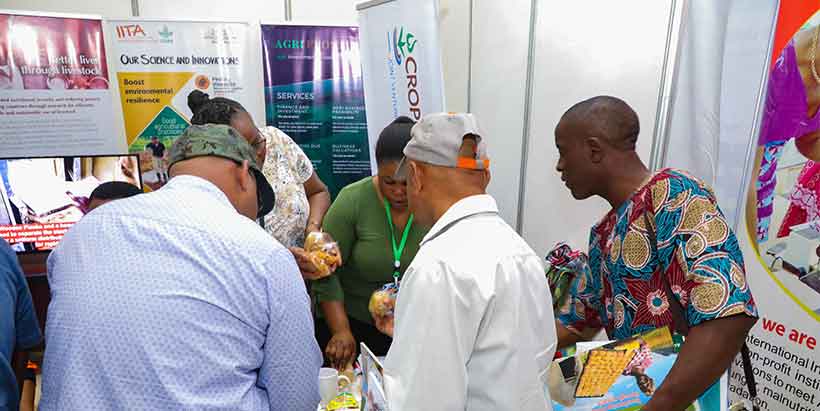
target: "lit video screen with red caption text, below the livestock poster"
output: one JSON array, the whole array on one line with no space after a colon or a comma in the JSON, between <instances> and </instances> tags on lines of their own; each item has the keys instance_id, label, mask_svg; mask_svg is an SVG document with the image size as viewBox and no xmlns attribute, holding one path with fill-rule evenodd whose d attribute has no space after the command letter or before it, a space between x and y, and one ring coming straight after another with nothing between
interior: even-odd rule
<instances>
[{"instance_id":1,"label":"lit video screen with red caption text, below the livestock poster","mask_svg":"<svg viewBox=\"0 0 820 411\"><path fill-rule=\"evenodd\" d=\"M142 188L136 155L0 159L0 237L19 252L54 248L100 184Z\"/></svg>"}]
</instances>

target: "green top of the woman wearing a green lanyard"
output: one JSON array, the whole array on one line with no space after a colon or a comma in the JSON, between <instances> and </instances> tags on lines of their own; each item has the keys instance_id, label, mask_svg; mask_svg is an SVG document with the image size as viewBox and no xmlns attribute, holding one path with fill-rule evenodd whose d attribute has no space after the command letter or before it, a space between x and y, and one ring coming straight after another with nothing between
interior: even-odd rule
<instances>
[{"instance_id":1,"label":"green top of the woman wearing a green lanyard","mask_svg":"<svg viewBox=\"0 0 820 411\"><path fill-rule=\"evenodd\" d=\"M339 243L344 265L331 276L313 282L316 301L344 301L349 317L372 324L367 309L370 295L393 281L390 228L372 177L342 189L325 215L323 228ZM402 275L419 251L427 230L413 224L401 257ZM396 236L400 238L401 234L397 232ZM321 310L317 312L322 315Z\"/></svg>"}]
</instances>

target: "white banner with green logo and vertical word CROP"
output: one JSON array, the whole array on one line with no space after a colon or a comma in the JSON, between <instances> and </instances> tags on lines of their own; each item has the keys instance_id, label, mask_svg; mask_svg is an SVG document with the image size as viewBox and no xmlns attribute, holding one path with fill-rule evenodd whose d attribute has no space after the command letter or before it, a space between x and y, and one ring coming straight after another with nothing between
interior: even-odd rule
<instances>
[{"instance_id":1,"label":"white banner with green logo and vertical word CROP","mask_svg":"<svg viewBox=\"0 0 820 411\"><path fill-rule=\"evenodd\" d=\"M373 1L358 6L370 161L396 117L444 111L438 1Z\"/></svg>"}]
</instances>

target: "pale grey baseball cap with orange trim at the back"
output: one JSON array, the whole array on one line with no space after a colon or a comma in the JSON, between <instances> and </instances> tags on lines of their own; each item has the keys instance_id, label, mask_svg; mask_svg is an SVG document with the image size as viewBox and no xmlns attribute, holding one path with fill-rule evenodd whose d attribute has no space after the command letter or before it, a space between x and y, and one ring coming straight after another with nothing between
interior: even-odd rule
<instances>
[{"instance_id":1,"label":"pale grey baseball cap with orange trim at the back","mask_svg":"<svg viewBox=\"0 0 820 411\"><path fill-rule=\"evenodd\" d=\"M470 113L428 114L410 130L410 142L404 147L404 158L396 170L396 178L407 178L407 160L440 167L467 170L489 170L487 145L481 137L478 122ZM465 137L476 140L476 156L460 156Z\"/></svg>"}]
</instances>

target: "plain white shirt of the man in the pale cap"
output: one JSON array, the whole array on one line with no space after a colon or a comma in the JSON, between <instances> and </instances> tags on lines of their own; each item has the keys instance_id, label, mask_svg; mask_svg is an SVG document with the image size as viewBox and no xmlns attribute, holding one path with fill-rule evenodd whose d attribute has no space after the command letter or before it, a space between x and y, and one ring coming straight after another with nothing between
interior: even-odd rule
<instances>
[{"instance_id":1,"label":"plain white shirt of the man in the pale cap","mask_svg":"<svg viewBox=\"0 0 820 411\"><path fill-rule=\"evenodd\" d=\"M555 352L540 258L488 195L436 222L405 274L385 360L391 411L544 411Z\"/></svg>"}]
</instances>

